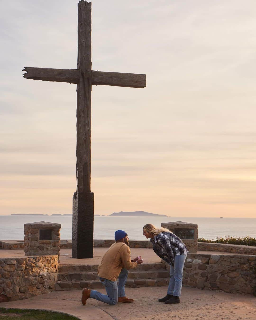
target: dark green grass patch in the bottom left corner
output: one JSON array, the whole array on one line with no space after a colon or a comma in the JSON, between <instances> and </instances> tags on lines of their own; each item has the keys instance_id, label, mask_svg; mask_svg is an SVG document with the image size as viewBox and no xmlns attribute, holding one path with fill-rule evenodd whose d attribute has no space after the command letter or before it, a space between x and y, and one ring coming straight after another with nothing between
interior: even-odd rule
<instances>
[{"instance_id":1,"label":"dark green grass patch in the bottom left corner","mask_svg":"<svg viewBox=\"0 0 256 320\"><path fill-rule=\"evenodd\" d=\"M75 316L69 316L65 313L55 311L33 310L33 309L6 309L0 308L0 319L13 320L74 320L78 319Z\"/></svg>"}]
</instances>

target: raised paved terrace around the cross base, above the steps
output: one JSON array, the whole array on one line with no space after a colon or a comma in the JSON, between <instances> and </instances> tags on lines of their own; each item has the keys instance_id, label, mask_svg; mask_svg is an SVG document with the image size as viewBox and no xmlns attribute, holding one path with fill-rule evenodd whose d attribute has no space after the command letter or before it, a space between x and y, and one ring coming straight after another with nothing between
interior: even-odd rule
<instances>
[{"instance_id":1,"label":"raised paved terrace around the cross base, above the steps","mask_svg":"<svg viewBox=\"0 0 256 320\"><path fill-rule=\"evenodd\" d=\"M99 264L102 256L108 250L108 248L94 248L93 259L72 259L72 249L60 249L60 264ZM216 251L198 251L202 254L232 254L237 253L230 252L216 252ZM160 258L155 254L153 249L147 248L131 248L131 257L135 258L141 256L145 263L160 262ZM24 257L23 250L0 250L0 258L18 258Z\"/></svg>"}]
</instances>

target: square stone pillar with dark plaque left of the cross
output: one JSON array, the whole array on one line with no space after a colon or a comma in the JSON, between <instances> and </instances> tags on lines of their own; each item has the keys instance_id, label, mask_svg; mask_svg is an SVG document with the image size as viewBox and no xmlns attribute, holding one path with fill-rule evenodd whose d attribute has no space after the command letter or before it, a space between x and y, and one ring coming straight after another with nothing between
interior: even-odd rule
<instances>
[{"instance_id":1,"label":"square stone pillar with dark plaque left of the cross","mask_svg":"<svg viewBox=\"0 0 256 320\"><path fill-rule=\"evenodd\" d=\"M45 221L25 223L25 255L60 254L60 228L60 223Z\"/></svg>"}]
</instances>

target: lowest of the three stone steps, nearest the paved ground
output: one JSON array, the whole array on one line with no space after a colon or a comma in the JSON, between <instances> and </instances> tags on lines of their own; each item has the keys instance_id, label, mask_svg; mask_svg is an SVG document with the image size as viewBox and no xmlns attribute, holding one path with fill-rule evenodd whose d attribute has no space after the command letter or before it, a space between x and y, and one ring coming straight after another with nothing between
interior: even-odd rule
<instances>
[{"instance_id":1,"label":"lowest of the three stone steps, nearest the paved ground","mask_svg":"<svg viewBox=\"0 0 256 320\"><path fill-rule=\"evenodd\" d=\"M125 287L139 288L139 287L153 287L153 286L167 286L169 284L168 278L159 279L127 279ZM104 285L99 280L88 281L58 281L56 283L56 291L66 290L81 290L87 289L104 289Z\"/></svg>"}]
</instances>

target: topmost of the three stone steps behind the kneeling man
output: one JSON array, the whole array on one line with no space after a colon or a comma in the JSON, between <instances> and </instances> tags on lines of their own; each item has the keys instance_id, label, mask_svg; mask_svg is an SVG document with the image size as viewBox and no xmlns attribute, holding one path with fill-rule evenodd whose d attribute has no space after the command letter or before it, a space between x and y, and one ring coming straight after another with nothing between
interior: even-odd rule
<instances>
[{"instance_id":1,"label":"topmost of the three stone steps behind the kneeling man","mask_svg":"<svg viewBox=\"0 0 256 320\"><path fill-rule=\"evenodd\" d=\"M60 273L70 273L70 272L80 272L80 271L89 271L97 272L98 264L81 264L81 265L70 265L70 264L60 264L59 272ZM158 270L165 269L164 263L141 263L136 267L138 271L148 271L148 270ZM134 269L135 270L135 269Z\"/></svg>"}]
</instances>

